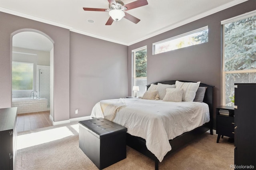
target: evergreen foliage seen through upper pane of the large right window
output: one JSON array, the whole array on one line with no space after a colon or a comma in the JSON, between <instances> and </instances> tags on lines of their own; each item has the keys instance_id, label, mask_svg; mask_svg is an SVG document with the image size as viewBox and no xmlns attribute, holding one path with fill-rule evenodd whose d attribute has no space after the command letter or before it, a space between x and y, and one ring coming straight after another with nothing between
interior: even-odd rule
<instances>
[{"instance_id":1,"label":"evergreen foliage seen through upper pane of the large right window","mask_svg":"<svg viewBox=\"0 0 256 170\"><path fill-rule=\"evenodd\" d=\"M225 71L256 69L256 16L225 24Z\"/></svg>"}]
</instances>

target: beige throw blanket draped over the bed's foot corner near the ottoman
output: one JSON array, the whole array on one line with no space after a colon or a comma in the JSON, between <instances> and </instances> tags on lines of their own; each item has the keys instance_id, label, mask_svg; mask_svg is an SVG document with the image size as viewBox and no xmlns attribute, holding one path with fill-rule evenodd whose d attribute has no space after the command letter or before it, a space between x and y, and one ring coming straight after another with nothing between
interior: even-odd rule
<instances>
[{"instance_id":1,"label":"beige throw blanket draped over the bed's foot corner near the ottoman","mask_svg":"<svg viewBox=\"0 0 256 170\"><path fill-rule=\"evenodd\" d=\"M115 100L102 100L100 101L100 107L104 118L113 121L116 117L116 112L118 112L123 107L126 107L124 99Z\"/></svg>"}]
</instances>

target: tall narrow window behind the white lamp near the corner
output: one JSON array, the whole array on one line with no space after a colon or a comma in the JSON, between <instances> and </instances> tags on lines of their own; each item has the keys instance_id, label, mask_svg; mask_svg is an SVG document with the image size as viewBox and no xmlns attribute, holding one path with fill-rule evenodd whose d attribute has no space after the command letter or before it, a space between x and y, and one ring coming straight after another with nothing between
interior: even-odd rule
<instances>
[{"instance_id":1,"label":"tall narrow window behind the white lamp near the corner","mask_svg":"<svg viewBox=\"0 0 256 170\"><path fill-rule=\"evenodd\" d=\"M132 50L132 56L134 63L133 86L139 86L138 96L143 96L147 85L147 47Z\"/></svg>"}]
</instances>

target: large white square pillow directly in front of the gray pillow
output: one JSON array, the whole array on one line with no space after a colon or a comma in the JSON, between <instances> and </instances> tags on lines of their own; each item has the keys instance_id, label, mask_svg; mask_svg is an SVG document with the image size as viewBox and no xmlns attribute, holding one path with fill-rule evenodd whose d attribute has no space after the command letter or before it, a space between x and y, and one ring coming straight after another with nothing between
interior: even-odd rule
<instances>
[{"instance_id":1,"label":"large white square pillow directly in front of the gray pillow","mask_svg":"<svg viewBox=\"0 0 256 170\"><path fill-rule=\"evenodd\" d=\"M183 89L182 101L194 101L200 81L197 83L176 81L175 85L176 88Z\"/></svg>"}]
</instances>

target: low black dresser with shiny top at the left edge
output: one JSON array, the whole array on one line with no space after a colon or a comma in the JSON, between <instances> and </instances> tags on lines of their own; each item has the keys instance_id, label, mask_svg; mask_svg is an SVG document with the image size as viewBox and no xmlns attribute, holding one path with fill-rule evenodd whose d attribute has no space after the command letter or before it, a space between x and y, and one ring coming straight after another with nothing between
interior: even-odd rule
<instances>
[{"instance_id":1,"label":"low black dresser with shiny top at the left edge","mask_svg":"<svg viewBox=\"0 0 256 170\"><path fill-rule=\"evenodd\" d=\"M0 170L15 169L17 107L0 109Z\"/></svg>"}]
</instances>

